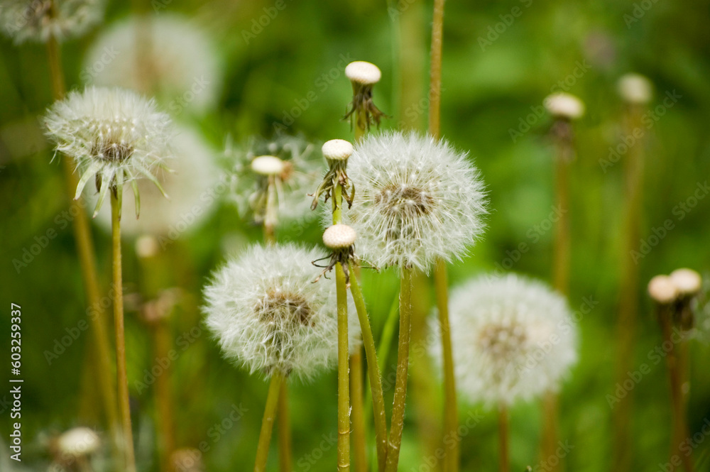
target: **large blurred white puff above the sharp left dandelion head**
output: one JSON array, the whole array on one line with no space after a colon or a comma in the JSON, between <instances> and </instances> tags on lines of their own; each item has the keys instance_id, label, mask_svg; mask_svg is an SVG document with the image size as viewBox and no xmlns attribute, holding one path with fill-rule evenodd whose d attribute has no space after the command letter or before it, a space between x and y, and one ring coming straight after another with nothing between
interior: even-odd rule
<instances>
[{"instance_id":1,"label":"large blurred white puff above the sharp left dandelion head","mask_svg":"<svg viewBox=\"0 0 710 472\"><path fill-rule=\"evenodd\" d=\"M222 85L206 33L187 18L134 16L102 33L87 54L82 79L155 97L173 114L214 106Z\"/></svg>"}]
</instances>

